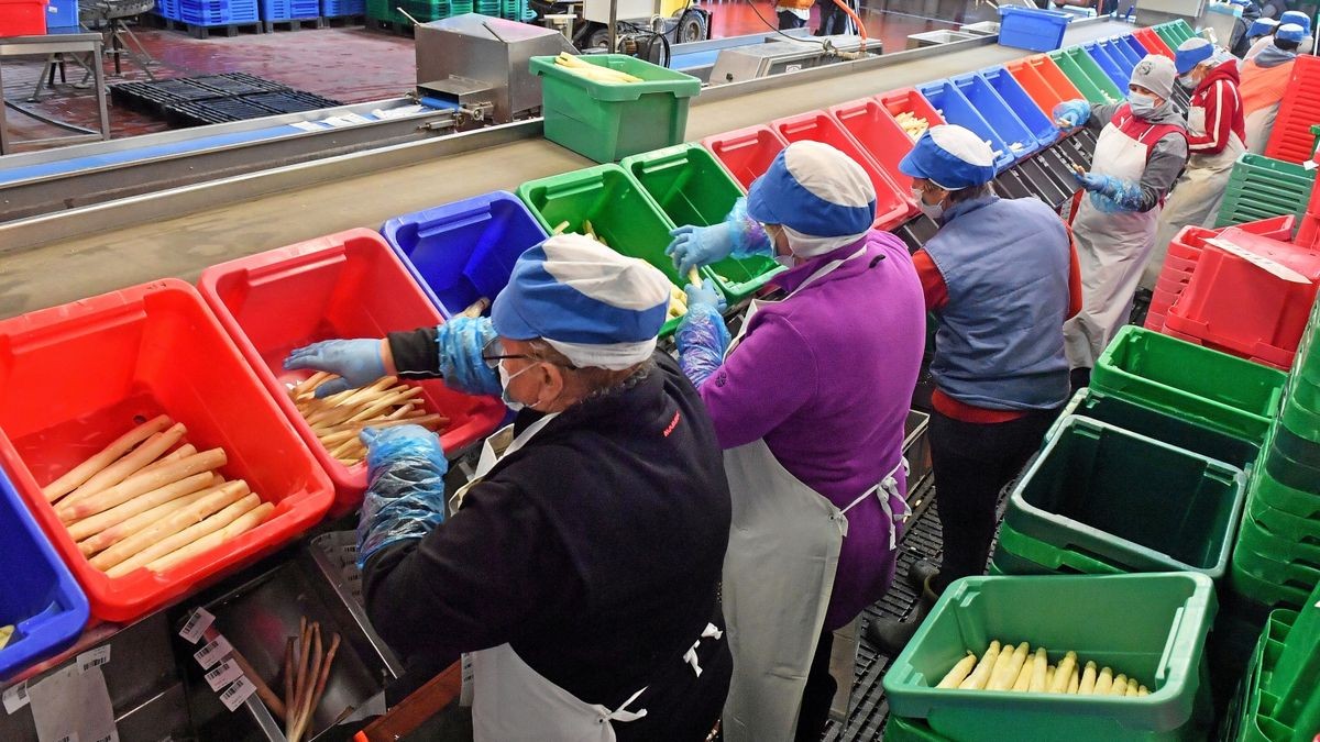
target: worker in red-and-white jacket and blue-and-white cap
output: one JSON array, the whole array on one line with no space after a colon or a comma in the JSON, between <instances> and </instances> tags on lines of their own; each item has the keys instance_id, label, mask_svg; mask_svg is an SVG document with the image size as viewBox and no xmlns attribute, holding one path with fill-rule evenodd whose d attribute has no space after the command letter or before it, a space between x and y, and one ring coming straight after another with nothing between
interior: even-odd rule
<instances>
[{"instance_id":1,"label":"worker in red-and-white jacket and blue-and-white cap","mask_svg":"<svg viewBox=\"0 0 1320 742\"><path fill-rule=\"evenodd\" d=\"M1177 48L1173 66L1192 90L1187 108L1187 169L1173 184L1155 228L1155 244L1142 273L1142 288L1155 289L1168 240L1183 227L1213 227L1233 174L1246 152L1246 124L1238 95L1237 58L1228 49L1192 37Z\"/></svg>"}]
</instances>

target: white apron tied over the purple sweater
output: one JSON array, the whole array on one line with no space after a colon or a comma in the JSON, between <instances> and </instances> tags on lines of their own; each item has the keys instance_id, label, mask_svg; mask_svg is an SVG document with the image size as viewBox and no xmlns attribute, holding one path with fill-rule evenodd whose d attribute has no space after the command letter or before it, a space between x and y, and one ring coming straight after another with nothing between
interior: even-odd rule
<instances>
[{"instance_id":1,"label":"white apron tied over the purple sweater","mask_svg":"<svg viewBox=\"0 0 1320 742\"><path fill-rule=\"evenodd\" d=\"M826 263L793 293L865 253L862 248ZM752 301L729 353L738 347L756 310L767 304L772 302ZM894 529L907 514L907 503L898 490L895 467L840 510L784 469L764 440L726 450L725 473L733 524L725 553L723 609L734 675L723 735L729 742L787 741L797 727L807 673L825 623L840 548L847 535L845 514L875 495L894 523L892 551Z\"/></svg>"}]
</instances>

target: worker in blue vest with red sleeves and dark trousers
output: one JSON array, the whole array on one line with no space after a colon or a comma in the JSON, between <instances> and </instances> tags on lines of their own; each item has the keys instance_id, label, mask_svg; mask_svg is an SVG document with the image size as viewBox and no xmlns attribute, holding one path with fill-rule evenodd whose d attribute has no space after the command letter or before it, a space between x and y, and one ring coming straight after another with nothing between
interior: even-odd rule
<instances>
[{"instance_id":1,"label":"worker in blue vest with red sleeves and dark trousers","mask_svg":"<svg viewBox=\"0 0 1320 742\"><path fill-rule=\"evenodd\" d=\"M1040 448L1068 401L1064 322L1081 309L1068 227L1036 198L994 194L994 152L957 125L932 127L899 162L940 231L916 251L925 308L940 318L931 375L931 459L944 556L907 580L921 597L909 621L873 621L898 654L960 577L982 574L999 491Z\"/></svg>"}]
</instances>

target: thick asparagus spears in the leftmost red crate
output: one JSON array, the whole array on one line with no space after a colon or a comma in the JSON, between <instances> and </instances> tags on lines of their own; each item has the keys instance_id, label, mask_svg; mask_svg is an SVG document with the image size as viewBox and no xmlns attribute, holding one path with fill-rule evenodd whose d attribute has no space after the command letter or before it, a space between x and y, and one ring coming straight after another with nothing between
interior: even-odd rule
<instances>
[{"instance_id":1,"label":"thick asparagus spears in the leftmost red crate","mask_svg":"<svg viewBox=\"0 0 1320 742\"><path fill-rule=\"evenodd\" d=\"M83 556L110 577L140 566L162 572L275 511L246 482L219 474L224 449L198 452L186 433L161 415L42 489Z\"/></svg>"}]
</instances>

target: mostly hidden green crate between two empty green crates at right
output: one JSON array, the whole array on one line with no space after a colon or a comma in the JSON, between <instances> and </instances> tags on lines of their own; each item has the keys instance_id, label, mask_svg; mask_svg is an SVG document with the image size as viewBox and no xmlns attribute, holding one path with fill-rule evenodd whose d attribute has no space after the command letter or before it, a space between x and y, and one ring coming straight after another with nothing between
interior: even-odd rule
<instances>
[{"instance_id":1,"label":"mostly hidden green crate between two empty green crates at right","mask_svg":"<svg viewBox=\"0 0 1320 742\"><path fill-rule=\"evenodd\" d=\"M1069 415L1109 422L1123 430L1147 436L1156 441L1164 441L1172 446L1187 449L1243 470L1251 469L1261 453L1261 448L1250 441L1158 409L1142 407L1122 397L1106 395L1089 387L1078 389L1073 395L1073 399L1069 400L1063 413L1060 413L1059 420L1045 433L1045 441L1059 433L1059 428Z\"/></svg>"}]
</instances>

